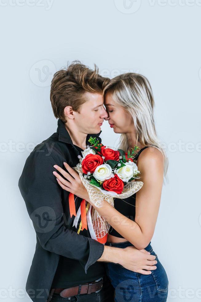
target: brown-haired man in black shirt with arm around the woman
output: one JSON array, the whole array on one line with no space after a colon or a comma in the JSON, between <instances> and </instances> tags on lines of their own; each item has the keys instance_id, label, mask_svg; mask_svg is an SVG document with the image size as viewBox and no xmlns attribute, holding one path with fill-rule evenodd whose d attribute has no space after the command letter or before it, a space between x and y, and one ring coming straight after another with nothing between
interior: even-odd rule
<instances>
[{"instance_id":1,"label":"brown-haired man in black shirt with arm around the woman","mask_svg":"<svg viewBox=\"0 0 201 302\"><path fill-rule=\"evenodd\" d=\"M96 66L93 71L79 62L53 76L50 100L58 118L57 132L30 153L18 183L36 231L36 250L26 282L34 302L60 301L61 297L77 301L77 295L79 301L111 302L114 289L104 262L137 271L150 261L153 269L155 256L145 250L104 246L90 238L88 228L77 234L80 220L77 228L73 226L69 192L61 189L53 175L55 164L63 169L63 162L77 165L90 136L101 142L101 125L108 117L103 106L108 81ZM75 198L76 212L81 201Z\"/></svg>"}]
</instances>

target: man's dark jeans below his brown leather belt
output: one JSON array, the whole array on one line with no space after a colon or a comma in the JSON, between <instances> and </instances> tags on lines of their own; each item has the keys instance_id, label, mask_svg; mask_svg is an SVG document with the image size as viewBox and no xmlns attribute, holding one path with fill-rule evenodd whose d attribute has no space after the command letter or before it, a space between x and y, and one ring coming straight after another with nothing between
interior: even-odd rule
<instances>
[{"instance_id":1,"label":"man's dark jeans below his brown leather belt","mask_svg":"<svg viewBox=\"0 0 201 302\"><path fill-rule=\"evenodd\" d=\"M91 294L80 294L69 298L62 298L59 294L54 293L50 302L112 302L114 301L114 288L111 285L108 276L103 277L103 286L100 292Z\"/></svg>"}]
</instances>

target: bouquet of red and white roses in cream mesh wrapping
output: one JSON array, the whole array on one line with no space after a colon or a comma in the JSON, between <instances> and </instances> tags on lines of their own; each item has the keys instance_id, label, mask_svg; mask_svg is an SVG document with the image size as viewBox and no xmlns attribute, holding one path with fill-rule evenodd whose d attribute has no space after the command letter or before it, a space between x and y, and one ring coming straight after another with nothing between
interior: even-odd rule
<instances>
[{"instance_id":1,"label":"bouquet of red and white roses in cream mesh wrapping","mask_svg":"<svg viewBox=\"0 0 201 302\"><path fill-rule=\"evenodd\" d=\"M89 142L91 146L82 152L83 157L78 156L80 162L73 169L79 173L92 204L87 215L91 237L100 242L104 238L102 243L105 243L110 225L93 205L100 208L106 200L114 206L115 197L128 198L142 188L143 182L135 181L140 178L134 160L139 147L135 145L132 153L124 153L121 149L99 144L97 138L90 137Z\"/></svg>"}]
</instances>

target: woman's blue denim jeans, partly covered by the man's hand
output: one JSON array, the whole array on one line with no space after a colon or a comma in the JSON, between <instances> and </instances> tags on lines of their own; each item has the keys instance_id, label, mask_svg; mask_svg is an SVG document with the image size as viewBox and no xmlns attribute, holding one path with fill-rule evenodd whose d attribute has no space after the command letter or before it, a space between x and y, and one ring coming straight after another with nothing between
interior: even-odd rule
<instances>
[{"instance_id":1,"label":"woman's blue denim jeans, partly covered by the man's hand","mask_svg":"<svg viewBox=\"0 0 201 302\"><path fill-rule=\"evenodd\" d=\"M107 246L125 248L133 246L129 241L122 243L105 243ZM151 242L145 248L156 256L156 270L150 275L143 275L124 268L120 264L108 262L106 272L115 288L116 302L165 302L168 296L168 276L158 256L152 249Z\"/></svg>"}]
</instances>

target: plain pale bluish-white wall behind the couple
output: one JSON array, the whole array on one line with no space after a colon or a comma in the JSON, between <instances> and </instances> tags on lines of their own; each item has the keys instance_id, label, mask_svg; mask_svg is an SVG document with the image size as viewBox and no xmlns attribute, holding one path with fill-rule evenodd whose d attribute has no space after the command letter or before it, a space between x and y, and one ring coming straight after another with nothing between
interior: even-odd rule
<instances>
[{"instance_id":1,"label":"plain pale bluish-white wall behind the couple","mask_svg":"<svg viewBox=\"0 0 201 302\"><path fill-rule=\"evenodd\" d=\"M96 63L103 76L148 77L169 158L152 246L168 274L168 301L201 300L201 1L0 0L0 6L0 300L30 301L23 291L36 235L18 179L34 146L56 132L49 84L74 59ZM116 144L108 122L102 130L104 143Z\"/></svg>"}]
</instances>

